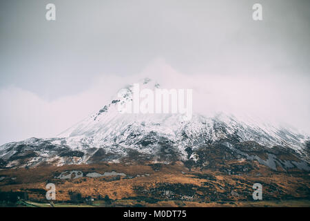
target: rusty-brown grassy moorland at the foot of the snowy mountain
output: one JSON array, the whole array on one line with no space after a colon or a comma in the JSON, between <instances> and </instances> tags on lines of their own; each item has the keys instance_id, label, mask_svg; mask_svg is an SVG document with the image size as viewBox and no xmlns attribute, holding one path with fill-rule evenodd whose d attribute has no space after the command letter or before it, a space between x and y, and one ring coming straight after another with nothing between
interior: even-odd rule
<instances>
[{"instance_id":1,"label":"rusty-brown grassy moorland at the foot of the snowy mountain","mask_svg":"<svg viewBox=\"0 0 310 221\"><path fill-rule=\"evenodd\" d=\"M1 206L310 206L309 173L187 168L174 164L81 164L0 171ZM220 168L220 167L219 167ZM1 178L2 177L2 178ZM47 184L56 199L46 200ZM262 184L262 200L253 185ZM15 200L18 197L19 200ZM14 201L15 202L11 202Z\"/></svg>"}]
</instances>

